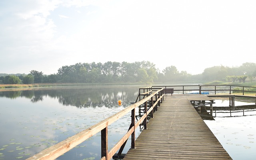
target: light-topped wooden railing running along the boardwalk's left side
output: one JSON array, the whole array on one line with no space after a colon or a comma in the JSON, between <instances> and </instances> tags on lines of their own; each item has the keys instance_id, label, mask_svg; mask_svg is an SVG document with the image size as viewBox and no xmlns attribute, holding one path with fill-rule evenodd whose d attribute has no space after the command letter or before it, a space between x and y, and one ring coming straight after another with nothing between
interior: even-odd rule
<instances>
[{"instance_id":1,"label":"light-topped wooden railing running along the boardwalk's left side","mask_svg":"<svg viewBox=\"0 0 256 160\"><path fill-rule=\"evenodd\" d=\"M143 91L140 90L140 91ZM122 111L108 117L105 120L91 126L90 128L83 130L82 132L67 138L66 140L51 146L35 154L34 156L28 158L27 160L54 160L61 156L62 154L68 152L78 144L81 144L86 139L94 136L98 132L101 132L101 159L100 160L109 160L112 156L119 150L118 154L122 153L122 149L126 144L128 138L131 136L131 148L135 148L135 129L143 123L144 128L147 128L147 117L150 114L153 117L154 111L157 111L157 107L160 106L160 103L163 101L163 89L158 89L157 91L153 91L152 89L146 89L145 92L140 92L140 96L143 95L143 99L140 101L126 107ZM150 104L150 106L148 106ZM136 107L140 107L140 105L144 105L145 111L144 115L140 117L136 122L135 117L135 109ZM148 109L149 107L149 109ZM117 121L127 113L131 112L131 125L128 129L128 132L114 145L114 147L108 152L108 126L113 122Z\"/></svg>"}]
</instances>

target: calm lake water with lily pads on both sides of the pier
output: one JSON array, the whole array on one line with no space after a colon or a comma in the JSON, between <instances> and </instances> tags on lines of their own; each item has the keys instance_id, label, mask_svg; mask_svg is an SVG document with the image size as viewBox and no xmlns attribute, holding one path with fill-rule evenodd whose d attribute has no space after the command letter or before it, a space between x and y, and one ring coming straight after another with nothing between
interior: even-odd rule
<instances>
[{"instance_id":1,"label":"calm lake water with lily pads on both sides of the pier","mask_svg":"<svg viewBox=\"0 0 256 160\"><path fill-rule=\"evenodd\" d=\"M1 91L0 160L24 160L110 117L136 101L140 87L144 86L48 87ZM118 100L122 101L121 106ZM216 117L215 120L204 121L234 160L255 159L255 115ZM129 126L130 114L109 126L109 149L127 132ZM139 133L138 128L136 137ZM100 145L98 133L58 160L100 159ZM130 140L123 153L129 148Z\"/></svg>"}]
</instances>

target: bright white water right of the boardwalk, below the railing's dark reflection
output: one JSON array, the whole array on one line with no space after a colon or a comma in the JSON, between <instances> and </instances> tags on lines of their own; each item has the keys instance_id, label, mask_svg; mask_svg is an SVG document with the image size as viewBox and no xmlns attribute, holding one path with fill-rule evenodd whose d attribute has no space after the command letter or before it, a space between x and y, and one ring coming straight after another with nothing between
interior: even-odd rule
<instances>
[{"instance_id":1,"label":"bright white water right of the boardwalk, below the railing's dark reflection","mask_svg":"<svg viewBox=\"0 0 256 160\"><path fill-rule=\"evenodd\" d=\"M204 120L233 160L255 160L256 116Z\"/></svg>"}]
</instances>

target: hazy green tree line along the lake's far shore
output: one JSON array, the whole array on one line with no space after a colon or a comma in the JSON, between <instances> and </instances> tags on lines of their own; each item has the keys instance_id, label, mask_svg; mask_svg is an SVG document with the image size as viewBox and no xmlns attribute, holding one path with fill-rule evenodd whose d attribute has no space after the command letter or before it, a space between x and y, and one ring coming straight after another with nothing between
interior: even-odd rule
<instances>
[{"instance_id":1,"label":"hazy green tree line along the lake's far shore","mask_svg":"<svg viewBox=\"0 0 256 160\"><path fill-rule=\"evenodd\" d=\"M1 76L1 75L0 75ZM4 84L32 83L157 83L178 81L243 81L248 76L256 76L256 63L243 63L239 67L214 66L204 69L202 74L191 75L178 71L171 65L162 72L150 61L76 63L65 65L57 73L44 75L32 70L28 75L5 75L0 80Z\"/></svg>"}]
</instances>

